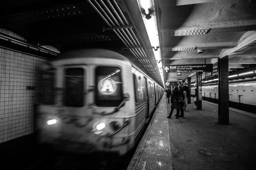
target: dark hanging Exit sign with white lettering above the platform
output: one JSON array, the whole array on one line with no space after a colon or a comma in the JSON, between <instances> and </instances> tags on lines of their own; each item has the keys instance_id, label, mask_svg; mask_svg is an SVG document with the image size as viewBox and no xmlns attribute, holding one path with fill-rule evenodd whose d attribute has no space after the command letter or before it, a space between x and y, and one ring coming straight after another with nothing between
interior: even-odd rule
<instances>
[{"instance_id":1,"label":"dark hanging Exit sign with white lettering above the platform","mask_svg":"<svg viewBox=\"0 0 256 170\"><path fill-rule=\"evenodd\" d=\"M170 73L210 72L212 64L186 64L170 66Z\"/></svg>"}]
</instances>

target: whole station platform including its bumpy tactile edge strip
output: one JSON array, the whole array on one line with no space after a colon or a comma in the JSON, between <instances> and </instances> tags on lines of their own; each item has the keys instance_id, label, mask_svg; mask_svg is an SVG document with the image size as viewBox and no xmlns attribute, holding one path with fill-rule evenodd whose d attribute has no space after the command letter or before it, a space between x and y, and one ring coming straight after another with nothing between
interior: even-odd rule
<instances>
[{"instance_id":1,"label":"whole station platform including its bumpy tactile edge strip","mask_svg":"<svg viewBox=\"0 0 256 170\"><path fill-rule=\"evenodd\" d=\"M256 169L254 113L230 108L229 125L205 101L202 110L188 104L184 118L168 113L164 95L127 169Z\"/></svg>"}]
</instances>

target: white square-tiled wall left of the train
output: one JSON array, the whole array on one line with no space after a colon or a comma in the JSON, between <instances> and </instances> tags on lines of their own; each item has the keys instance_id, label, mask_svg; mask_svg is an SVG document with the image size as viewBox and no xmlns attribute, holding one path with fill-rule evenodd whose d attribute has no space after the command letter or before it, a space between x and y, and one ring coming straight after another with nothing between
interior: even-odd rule
<instances>
[{"instance_id":1,"label":"white square-tiled wall left of the train","mask_svg":"<svg viewBox=\"0 0 256 170\"><path fill-rule=\"evenodd\" d=\"M44 61L0 47L0 143L33 132L39 68Z\"/></svg>"}]
</instances>

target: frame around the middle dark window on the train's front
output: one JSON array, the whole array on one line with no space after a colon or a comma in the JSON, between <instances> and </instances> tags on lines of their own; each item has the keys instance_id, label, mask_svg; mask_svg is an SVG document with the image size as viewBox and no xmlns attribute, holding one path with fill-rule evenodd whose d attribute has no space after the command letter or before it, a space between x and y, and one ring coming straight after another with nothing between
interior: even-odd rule
<instances>
[{"instance_id":1,"label":"frame around the middle dark window on the train's front","mask_svg":"<svg viewBox=\"0 0 256 170\"><path fill-rule=\"evenodd\" d=\"M66 81L66 73L67 73L67 69L83 69L83 92L81 93L81 103L79 104L74 104L73 106L68 105L67 104L67 81ZM86 71L86 66L84 65L66 65L65 67L63 67L63 86L65 87L64 92L63 92L63 106L67 106L67 107L76 107L76 108L81 108L84 107L84 105L86 104L86 97L84 96L85 92L86 92L86 76L87 75L87 71Z\"/></svg>"}]
</instances>

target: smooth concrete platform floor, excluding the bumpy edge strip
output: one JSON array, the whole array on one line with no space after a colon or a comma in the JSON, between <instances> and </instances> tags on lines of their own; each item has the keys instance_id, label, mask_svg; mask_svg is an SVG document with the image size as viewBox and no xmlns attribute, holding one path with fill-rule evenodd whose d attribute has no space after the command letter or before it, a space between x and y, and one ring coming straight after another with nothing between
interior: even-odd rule
<instances>
[{"instance_id":1,"label":"smooth concrete platform floor, excluding the bumpy edge strip","mask_svg":"<svg viewBox=\"0 0 256 170\"><path fill-rule=\"evenodd\" d=\"M176 119L175 110L168 119L174 169L256 169L255 114L230 110L230 124L220 125L217 104L194 106L188 104L184 118Z\"/></svg>"}]
</instances>

